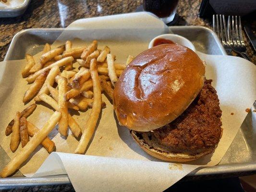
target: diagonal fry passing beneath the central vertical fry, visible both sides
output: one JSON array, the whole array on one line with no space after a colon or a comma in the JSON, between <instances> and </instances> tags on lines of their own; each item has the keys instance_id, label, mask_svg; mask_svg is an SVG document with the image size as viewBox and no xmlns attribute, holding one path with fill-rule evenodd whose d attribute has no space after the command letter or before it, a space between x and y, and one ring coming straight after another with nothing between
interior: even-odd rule
<instances>
[{"instance_id":1,"label":"diagonal fry passing beneath the central vertical fry, visible both sides","mask_svg":"<svg viewBox=\"0 0 256 192\"><path fill-rule=\"evenodd\" d=\"M46 94L42 94L39 97L42 101L49 104L55 110L60 110L58 103L50 96L48 96ZM75 137L79 137L81 135L81 133L82 133L81 128L75 122L75 120L73 119L73 117L70 114L68 114L68 125L69 125L71 132L73 132Z\"/></svg>"}]
</instances>

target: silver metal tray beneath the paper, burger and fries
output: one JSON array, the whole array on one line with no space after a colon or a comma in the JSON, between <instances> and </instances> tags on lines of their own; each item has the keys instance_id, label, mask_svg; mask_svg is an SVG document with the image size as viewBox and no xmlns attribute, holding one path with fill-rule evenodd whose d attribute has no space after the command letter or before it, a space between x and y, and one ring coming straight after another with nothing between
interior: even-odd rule
<instances>
[{"instance_id":1,"label":"silver metal tray beneath the paper, burger and fries","mask_svg":"<svg viewBox=\"0 0 256 192\"><path fill-rule=\"evenodd\" d=\"M226 55L216 34L201 26L171 26L174 34L188 38L198 51L212 55ZM26 29L16 34L7 51L5 60L24 59L25 53L35 54L45 43L53 43L63 29ZM24 41L26 39L26 41ZM253 116L253 117L252 117ZM187 179L223 177L223 175L249 175L256 172L256 115L248 113L230 148L219 165L200 168L188 174ZM255 123L254 123L255 124ZM10 160L0 147L0 169ZM186 178L184 178L186 180ZM26 178L19 171L11 178L0 179L0 189L32 185L70 184L67 175Z\"/></svg>"}]
</instances>

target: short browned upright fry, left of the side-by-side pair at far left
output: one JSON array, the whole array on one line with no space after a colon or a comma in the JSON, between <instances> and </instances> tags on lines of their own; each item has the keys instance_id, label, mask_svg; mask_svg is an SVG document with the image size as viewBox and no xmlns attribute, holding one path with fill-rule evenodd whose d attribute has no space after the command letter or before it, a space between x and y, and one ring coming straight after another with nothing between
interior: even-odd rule
<instances>
[{"instance_id":1,"label":"short browned upright fry, left of the side-by-side pair at far left","mask_svg":"<svg viewBox=\"0 0 256 192\"><path fill-rule=\"evenodd\" d=\"M11 143L10 143L10 148L12 150L12 153L16 151L18 148L21 138L20 138L20 118L21 118L21 113L17 112L15 119L14 119L14 124L12 126L12 137L11 137Z\"/></svg>"}]
</instances>

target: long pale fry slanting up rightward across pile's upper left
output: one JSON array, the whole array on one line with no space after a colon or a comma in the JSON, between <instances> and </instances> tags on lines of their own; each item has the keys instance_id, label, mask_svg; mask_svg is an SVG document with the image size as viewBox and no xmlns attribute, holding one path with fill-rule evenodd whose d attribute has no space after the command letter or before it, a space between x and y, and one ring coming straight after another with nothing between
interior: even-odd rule
<instances>
[{"instance_id":1,"label":"long pale fry slanting up rightward across pile's upper left","mask_svg":"<svg viewBox=\"0 0 256 192\"><path fill-rule=\"evenodd\" d=\"M33 82L37 79L37 77L38 77L41 73L47 71L48 69L53 68L53 67L56 66L56 65L58 65L59 67L62 67L62 66L64 66L64 65L66 65L67 63L72 62L73 60L74 60L73 57L66 57L66 58L63 58L63 59L61 59L61 60L58 60L58 61L56 61L56 62L50 64L47 68L43 68L43 69L41 69L41 70L35 72L34 74L29 75L28 78L26 79L26 81L27 81L29 84L31 84L31 83L33 83Z\"/></svg>"}]
</instances>

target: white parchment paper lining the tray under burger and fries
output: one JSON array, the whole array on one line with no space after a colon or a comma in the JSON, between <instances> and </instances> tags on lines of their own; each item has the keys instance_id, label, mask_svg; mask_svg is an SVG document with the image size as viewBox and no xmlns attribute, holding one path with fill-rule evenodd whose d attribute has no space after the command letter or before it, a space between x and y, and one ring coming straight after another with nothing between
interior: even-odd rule
<instances>
[{"instance_id":1,"label":"white parchment paper lining the tray under burger and fries","mask_svg":"<svg viewBox=\"0 0 256 192\"><path fill-rule=\"evenodd\" d=\"M74 22L71 30L65 30L55 45L71 39L75 47L81 44L88 45L92 39L98 39L99 48L108 45L111 53L117 56L117 62L125 62L129 54L136 56L147 49L153 37L166 33L166 27L159 23L159 20L145 13L107 16L95 18L95 20L92 18L89 19L88 25L86 21L88 20ZM94 24L98 26L97 30L93 28ZM104 27L100 28L103 24L105 24ZM133 30L126 27L129 24ZM85 30L78 31L76 27L79 26ZM122 26L127 30L122 30ZM213 86L217 90L220 108L223 111L221 117L223 135L213 154L183 165L161 162L148 156L133 141L128 129L118 125L113 106L103 96L107 107L102 110L95 135L85 155L70 154L73 153L78 141L71 133L65 140L54 129L49 136L56 144L57 153L49 156L46 150L39 146L20 171L25 176L33 176L48 157L35 176L67 173L77 192L85 189L86 191L106 191L106 189L109 191L163 191L195 168L218 164L247 114L244 109L250 108L255 99L256 68L253 63L238 57L212 56L200 52L197 54L207 63L206 77L213 79ZM24 108L22 98L24 90L29 85L20 74L24 60L3 61L0 66L4 69L0 81L0 102L2 102L0 110L4 111L0 116L0 144L13 158L15 154L9 147L10 136L6 137L4 131L16 111ZM31 103L33 101L29 104ZM52 113L50 108L38 105L28 120L40 128ZM90 110L73 115L82 128L89 113ZM20 148L16 153L19 150Z\"/></svg>"}]
</instances>

